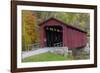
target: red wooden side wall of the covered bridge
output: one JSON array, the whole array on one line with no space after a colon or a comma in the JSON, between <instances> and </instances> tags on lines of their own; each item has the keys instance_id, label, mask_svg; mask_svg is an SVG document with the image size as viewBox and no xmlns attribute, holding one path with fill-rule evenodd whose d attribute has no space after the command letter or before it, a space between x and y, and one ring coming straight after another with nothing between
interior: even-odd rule
<instances>
[{"instance_id":1,"label":"red wooden side wall of the covered bridge","mask_svg":"<svg viewBox=\"0 0 100 73\"><path fill-rule=\"evenodd\" d=\"M66 45L69 48L77 48L85 46L87 42L86 33L82 33L78 30L66 28Z\"/></svg>"}]
</instances>

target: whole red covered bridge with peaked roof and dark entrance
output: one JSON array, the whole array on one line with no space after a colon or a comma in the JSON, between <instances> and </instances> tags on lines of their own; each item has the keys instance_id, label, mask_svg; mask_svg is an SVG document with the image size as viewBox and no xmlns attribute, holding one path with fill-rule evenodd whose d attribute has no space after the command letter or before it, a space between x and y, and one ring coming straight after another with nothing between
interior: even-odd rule
<instances>
[{"instance_id":1,"label":"whole red covered bridge with peaked roof and dark entrance","mask_svg":"<svg viewBox=\"0 0 100 73\"><path fill-rule=\"evenodd\" d=\"M86 46L87 34L55 18L40 23L41 47L79 48Z\"/></svg>"}]
</instances>

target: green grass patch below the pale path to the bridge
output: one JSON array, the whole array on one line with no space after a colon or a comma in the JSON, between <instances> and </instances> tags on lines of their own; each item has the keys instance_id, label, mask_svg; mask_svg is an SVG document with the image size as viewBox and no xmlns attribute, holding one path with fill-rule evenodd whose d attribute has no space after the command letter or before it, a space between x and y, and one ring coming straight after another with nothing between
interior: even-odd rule
<instances>
[{"instance_id":1,"label":"green grass patch below the pale path to the bridge","mask_svg":"<svg viewBox=\"0 0 100 73\"><path fill-rule=\"evenodd\" d=\"M73 57L71 55L58 55L54 53L42 53L34 56L27 57L22 60L22 62L43 62L43 61L63 61L63 60L72 60Z\"/></svg>"}]
</instances>

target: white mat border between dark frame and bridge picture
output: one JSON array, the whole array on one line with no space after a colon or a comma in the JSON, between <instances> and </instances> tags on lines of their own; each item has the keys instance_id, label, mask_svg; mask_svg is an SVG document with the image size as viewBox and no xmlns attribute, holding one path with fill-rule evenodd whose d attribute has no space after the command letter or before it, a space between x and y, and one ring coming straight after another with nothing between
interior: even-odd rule
<instances>
[{"instance_id":1,"label":"white mat border between dark frame and bridge picture","mask_svg":"<svg viewBox=\"0 0 100 73\"><path fill-rule=\"evenodd\" d=\"M33 11L57 11L57 12L74 12L74 13L89 13L90 14L90 59L89 60L71 60L71 61L52 61L52 62L21 62L21 46L22 46L22 10ZM48 67L48 66L62 66L62 65L84 65L94 64L94 10L79 9L79 8L58 8L58 7L40 7L40 6L17 6L17 68L30 67Z\"/></svg>"}]
</instances>

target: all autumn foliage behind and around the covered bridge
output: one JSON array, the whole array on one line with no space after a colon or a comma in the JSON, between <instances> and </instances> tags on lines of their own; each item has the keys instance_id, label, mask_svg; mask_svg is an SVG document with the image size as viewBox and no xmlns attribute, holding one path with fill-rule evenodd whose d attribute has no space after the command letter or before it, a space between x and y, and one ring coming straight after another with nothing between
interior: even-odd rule
<instances>
[{"instance_id":1,"label":"all autumn foliage behind and around the covered bridge","mask_svg":"<svg viewBox=\"0 0 100 73\"><path fill-rule=\"evenodd\" d=\"M49 18L56 18L66 24L84 30L89 35L90 15L88 13L50 12L22 10L22 49L29 44L39 43L39 24Z\"/></svg>"}]
</instances>

